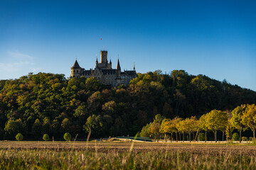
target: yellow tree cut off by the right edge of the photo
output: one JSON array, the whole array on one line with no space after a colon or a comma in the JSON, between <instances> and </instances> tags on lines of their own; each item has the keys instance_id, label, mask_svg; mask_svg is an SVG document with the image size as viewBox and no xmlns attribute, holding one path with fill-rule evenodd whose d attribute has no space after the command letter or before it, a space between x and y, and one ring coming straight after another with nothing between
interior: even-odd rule
<instances>
[{"instance_id":1,"label":"yellow tree cut off by the right edge of the photo","mask_svg":"<svg viewBox=\"0 0 256 170\"><path fill-rule=\"evenodd\" d=\"M256 106L255 106L255 104L247 105L246 110L242 115L242 124L252 130L253 140L255 140L255 128L256 128Z\"/></svg>"}]
</instances>

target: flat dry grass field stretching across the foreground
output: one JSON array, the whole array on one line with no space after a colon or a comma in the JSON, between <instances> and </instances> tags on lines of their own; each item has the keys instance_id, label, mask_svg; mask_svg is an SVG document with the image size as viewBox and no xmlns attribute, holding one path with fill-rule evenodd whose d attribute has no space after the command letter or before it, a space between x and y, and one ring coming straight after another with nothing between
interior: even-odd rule
<instances>
[{"instance_id":1,"label":"flat dry grass field stretching across the foreground","mask_svg":"<svg viewBox=\"0 0 256 170\"><path fill-rule=\"evenodd\" d=\"M256 169L255 156L245 144L0 142L0 169Z\"/></svg>"}]
</instances>

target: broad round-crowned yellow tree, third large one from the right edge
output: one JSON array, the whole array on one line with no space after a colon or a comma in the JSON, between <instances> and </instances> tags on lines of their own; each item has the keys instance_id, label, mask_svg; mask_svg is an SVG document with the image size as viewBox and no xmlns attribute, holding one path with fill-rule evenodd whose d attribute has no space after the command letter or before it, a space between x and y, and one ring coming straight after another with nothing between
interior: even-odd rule
<instances>
[{"instance_id":1,"label":"broad round-crowned yellow tree, third large one from the right edge","mask_svg":"<svg viewBox=\"0 0 256 170\"><path fill-rule=\"evenodd\" d=\"M209 113L206 113L206 126L208 130L213 131L215 142L217 142L217 131L224 130L225 132L227 123L228 123L227 114L223 111L213 110L213 111L210 111Z\"/></svg>"}]
</instances>

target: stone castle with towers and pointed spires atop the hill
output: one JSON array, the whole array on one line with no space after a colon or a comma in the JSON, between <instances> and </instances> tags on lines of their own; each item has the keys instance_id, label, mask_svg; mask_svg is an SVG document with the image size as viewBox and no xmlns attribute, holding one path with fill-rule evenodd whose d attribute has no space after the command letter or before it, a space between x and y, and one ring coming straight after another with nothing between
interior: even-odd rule
<instances>
[{"instance_id":1,"label":"stone castle with towers and pointed spires atop the hill","mask_svg":"<svg viewBox=\"0 0 256 170\"><path fill-rule=\"evenodd\" d=\"M117 68L112 69L112 62L107 62L107 51L100 51L100 63L96 60L95 69L86 70L81 68L78 61L75 60L75 64L71 67L71 77L95 77L102 84L107 86L119 86L124 84L127 86L131 79L137 77L135 66L133 70L124 70L121 72L119 59L117 60Z\"/></svg>"}]
</instances>

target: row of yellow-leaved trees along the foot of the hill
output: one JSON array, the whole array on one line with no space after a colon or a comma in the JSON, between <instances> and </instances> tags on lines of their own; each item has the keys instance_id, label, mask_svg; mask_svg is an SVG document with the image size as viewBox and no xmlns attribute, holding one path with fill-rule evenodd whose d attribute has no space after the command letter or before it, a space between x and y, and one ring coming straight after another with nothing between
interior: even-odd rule
<instances>
[{"instance_id":1,"label":"row of yellow-leaved trees along the foot of the hill","mask_svg":"<svg viewBox=\"0 0 256 170\"><path fill-rule=\"evenodd\" d=\"M151 137L154 140L164 139L167 140L167 135L172 141L173 134L176 134L175 140L200 140L200 132L204 132L203 138L207 141L207 132L211 131L214 134L214 140L217 142L217 132L223 133L222 140L232 140L233 130L237 129L240 132L240 142L242 141L242 130L250 129L253 132L253 139L255 140L256 129L256 106L241 105L233 111L218 111L213 110L209 113L202 115L199 119L195 116L191 118L174 118L168 119L164 116L156 115L152 123L147 124L142 128L140 136ZM179 135L179 138L178 138ZM181 138L182 135L182 138ZM192 137L191 137L192 135Z\"/></svg>"}]
</instances>

